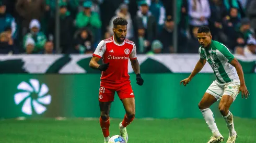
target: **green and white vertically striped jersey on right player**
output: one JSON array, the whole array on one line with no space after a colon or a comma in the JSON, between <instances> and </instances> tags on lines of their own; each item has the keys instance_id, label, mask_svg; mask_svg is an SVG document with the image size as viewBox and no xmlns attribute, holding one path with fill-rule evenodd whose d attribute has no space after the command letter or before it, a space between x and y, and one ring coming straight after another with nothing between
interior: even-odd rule
<instances>
[{"instance_id":1,"label":"green and white vertically striped jersey on right player","mask_svg":"<svg viewBox=\"0 0 256 143\"><path fill-rule=\"evenodd\" d=\"M218 82L227 83L239 78L236 68L229 63L235 57L222 43L212 40L209 49L199 48L199 54L210 64Z\"/></svg>"}]
</instances>

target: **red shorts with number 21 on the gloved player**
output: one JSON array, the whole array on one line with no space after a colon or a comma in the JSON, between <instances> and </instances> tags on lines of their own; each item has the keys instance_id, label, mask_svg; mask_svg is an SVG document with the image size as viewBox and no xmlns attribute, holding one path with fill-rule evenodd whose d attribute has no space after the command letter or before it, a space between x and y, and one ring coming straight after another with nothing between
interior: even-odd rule
<instances>
[{"instance_id":1,"label":"red shorts with number 21 on the gloved player","mask_svg":"<svg viewBox=\"0 0 256 143\"><path fill-rule=\"evenodd\" d=\"M125 98L134 98L134 93L133 93L131 84L125 84L119 87L112 87L111 89L107 87L103 87L101 85L99 90L99 101L100 102L114 101L115 92L118 93L119 99L121 100Z\"/></svg>"}]
</instances>

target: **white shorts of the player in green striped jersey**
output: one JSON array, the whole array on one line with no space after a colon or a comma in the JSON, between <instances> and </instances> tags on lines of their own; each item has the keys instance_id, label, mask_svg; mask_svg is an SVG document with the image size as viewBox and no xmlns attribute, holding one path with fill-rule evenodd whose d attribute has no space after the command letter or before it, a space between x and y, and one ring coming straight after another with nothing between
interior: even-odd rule
<instances>
[{"instance_id":1,"label":"white shorts of the player in green striped jersey","mask_svg":"<svg viewBox=\"0 0 256 143\"><path fill-rule=\"evenodd\" d=\"M206 93L213 95L217 100L222 99L223 95L231 96L234 101L238 95L240 88L239 79L232 80L229 83L219 83L218 81L213 81L213 83L208 87Z\"/></svg>"}]
</instances>

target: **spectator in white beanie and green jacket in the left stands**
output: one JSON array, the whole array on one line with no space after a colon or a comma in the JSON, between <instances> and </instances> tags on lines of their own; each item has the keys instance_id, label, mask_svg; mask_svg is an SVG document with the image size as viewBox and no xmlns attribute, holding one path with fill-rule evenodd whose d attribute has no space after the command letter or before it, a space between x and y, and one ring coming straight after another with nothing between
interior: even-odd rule
<instances>
[{"instance_id":1,"label":"spectator in white beanie and green jacket in the left stands","mask_svg":"<svg viewBox=\"0 0 256 143\"><path fill-rule=\"evenodd\" d=\"M30 28L30 33L26 34L24 37L24 48L26 49L26 43L27 41L32 38L34 41L34 48L33 48L33 52L34 53L38 53L40 50L43 49L44 44L46 42L46 36L44 35L43 32L40 32L40 23L37 19L33 19L30 24L29 24L29 28Z\"/></svg>"}]
</instances>

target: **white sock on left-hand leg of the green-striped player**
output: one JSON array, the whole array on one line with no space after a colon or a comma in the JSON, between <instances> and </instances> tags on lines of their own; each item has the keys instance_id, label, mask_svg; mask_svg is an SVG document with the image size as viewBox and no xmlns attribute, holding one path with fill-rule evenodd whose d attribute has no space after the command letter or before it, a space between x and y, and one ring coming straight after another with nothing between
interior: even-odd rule
<instances>
[{"instance_id":1,"label":"white sock on left-hand leg of the green-striped player","mask_svg":"<svg viewBox=\"0 0 256 143\"><path fill-rule=\"evenodd\" d=\"M200 110L203 114L204 120L206 121L208 127L211 129L214 137L219 137L220 133L215 123L214 114L210 108Z\"/></svg>"}]
</instances>

